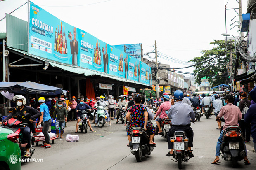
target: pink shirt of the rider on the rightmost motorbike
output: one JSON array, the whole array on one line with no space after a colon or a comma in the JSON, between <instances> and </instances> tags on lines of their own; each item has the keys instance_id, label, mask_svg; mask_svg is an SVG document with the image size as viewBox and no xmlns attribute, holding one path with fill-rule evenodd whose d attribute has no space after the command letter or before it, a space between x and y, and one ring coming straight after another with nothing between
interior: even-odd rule
<instances>
[{"instance_id":1,"label":"pink shirt of the rider on the rightmost motorbike","mask_svg":"<svg viewBox=\"0 0 256 170\"><path fill-rule=\"evenodd\" d=\"M233 105L232 103L221 107L218 117L222 116L224 116L225 119L223 130L225 130L228 126L239 126L238 120L242 119L242 113L239 107Z\"/></svg>"}]
</instances>

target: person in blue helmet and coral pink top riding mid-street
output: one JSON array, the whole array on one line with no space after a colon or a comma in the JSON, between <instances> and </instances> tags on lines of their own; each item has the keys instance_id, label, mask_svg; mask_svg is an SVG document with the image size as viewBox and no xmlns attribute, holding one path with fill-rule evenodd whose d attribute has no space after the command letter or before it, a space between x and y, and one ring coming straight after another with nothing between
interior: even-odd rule
<instances>
[{"instance_id":1,"label":"person in blue helmet and coral pink top riding mid-street","mask_svg":"<svg viewBox=\"0 0 256 170\"><path fill-rule=\"evenodd\" d=\"M164 95L164 102L160 105L159 109L156 112L156 115L154 116L154 119L156 119L156 125L159 129L158 134L162 134L161 130L161 121L163 118L167 117L168 110L171 108L171 102L170 102L170 96L168 94ZM160 116L159 116L160 115ZM157 118L157 116L159 116Z\"/></svg>"}]
</instances>

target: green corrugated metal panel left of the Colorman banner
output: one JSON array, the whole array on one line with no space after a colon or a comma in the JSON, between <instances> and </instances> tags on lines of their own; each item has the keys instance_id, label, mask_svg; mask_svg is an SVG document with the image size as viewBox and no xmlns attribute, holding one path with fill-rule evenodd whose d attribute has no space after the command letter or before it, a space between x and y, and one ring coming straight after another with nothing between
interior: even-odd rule
<instances>
[{"instance_id":1,"label":"green corrugated metal panel left of the Colorman banner","mask_svg":"<svg viewBox=\"0 0 256 170\"><path fill-rule=\"evenodd\" d=\"M28 22L6 14L7 46L28 51ZM21 45L23 44L23 45Z\"/></svg>"}]
</instances>

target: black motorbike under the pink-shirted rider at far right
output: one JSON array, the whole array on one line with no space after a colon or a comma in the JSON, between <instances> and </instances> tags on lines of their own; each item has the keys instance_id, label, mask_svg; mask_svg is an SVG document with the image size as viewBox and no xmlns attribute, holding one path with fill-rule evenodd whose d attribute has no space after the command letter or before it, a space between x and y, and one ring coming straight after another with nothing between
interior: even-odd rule
<instances>
[{"instance_id":1,"label":"black motorbike under the pink-shirted rider at far right","mask_svg":"<svg viewBox=\"0 0 256 170\"><path fill-rule=\"evenodd\" d=\"M239 126L229 126L223 132L223 140L220 147L221 157L225 161L231 161L232 167L236 168L238 161L246 156L242 130Z\"/></svg>"}]
</instances>

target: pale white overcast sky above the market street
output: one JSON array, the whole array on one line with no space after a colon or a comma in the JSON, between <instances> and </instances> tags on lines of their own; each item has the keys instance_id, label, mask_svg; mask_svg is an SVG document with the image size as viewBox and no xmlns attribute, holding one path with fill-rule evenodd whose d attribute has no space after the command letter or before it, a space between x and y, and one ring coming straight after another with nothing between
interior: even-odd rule
<instances>
[{"instance_id":1,"label":"pale white overcast sky above the market street","mask_svg":"<svg viewBox=\"0 0 256 170\"><path fill-rule=\"evenodd\" d=\"M238 1L238 0L237 0ZM236 0L226 0L227 9L238 8ZM27 0L0 0L0 19L5 13L23 5ZM142 43L143 53L152 52L156 40L157 51L177 60L189 61L201 56L201 50L214 46L213 40L224 40L224 0L31 0L62 21L76 26L110 44ZM246 13L247 0L242 0ZM237 12L238 9L237 9ZM227 33L238 36L239 16L227 10ZM11 15L28 20L28 5ZM235 17L237 16L237 17ZM235 17L235 19L233 19ZM233 19L232 21L230 21ZM0 32L6 31L6 20L0 21ZM234 23L235 22L235 23ZM230 24L234 23L232 26ZM232 30L232 28L235 26ZM152 60L155 54L144 58ZM177 61L175 60L175 61ZM187 65L166 61L171 68ZM194 68L176 69L193 72Z\"/></svg>"}]
</instances>

